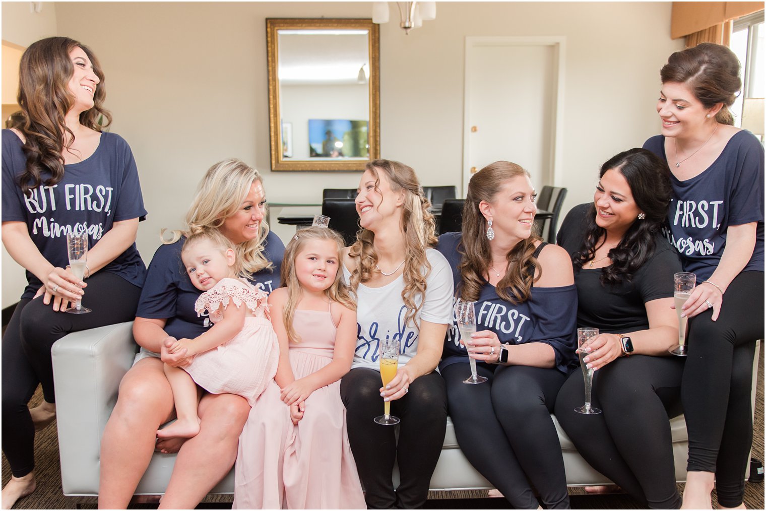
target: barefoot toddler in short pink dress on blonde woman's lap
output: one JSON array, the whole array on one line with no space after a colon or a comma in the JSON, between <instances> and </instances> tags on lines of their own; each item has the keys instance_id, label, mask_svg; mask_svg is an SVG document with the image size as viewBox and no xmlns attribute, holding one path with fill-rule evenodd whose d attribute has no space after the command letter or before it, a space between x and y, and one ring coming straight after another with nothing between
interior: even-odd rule
<instances>
[{"instance_id":1,"label":"barefoot toddler in short pink dress on blonde woman's lap","mask_svg":"<svg viewBox=\"0 0 766 511\"><path fill-rule=\"evenodd\" d=\"M231 241L215 229L192 234L181 259L191 283L204 291L195 310L208 314L214 326L195 339L178 339L169 348L171 354L187 349L191 362L183 369L165 364L178 420L158 430L160 438L198 434L195 383L213 394L241 395L252 406L277 372L279 360L267 294L241 277Z\"/></svg>"}]
</instances>

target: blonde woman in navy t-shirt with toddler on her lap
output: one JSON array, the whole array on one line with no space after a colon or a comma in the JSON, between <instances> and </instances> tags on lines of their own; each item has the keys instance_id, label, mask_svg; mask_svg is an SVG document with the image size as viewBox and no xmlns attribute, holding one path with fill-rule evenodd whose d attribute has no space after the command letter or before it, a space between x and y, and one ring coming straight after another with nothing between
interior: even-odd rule
<instances>
[{"instance_id":1,"label":"blonde woman in navy t-shirt with toddler on her lap","mask_svg":"<svg viewBox=\"0 0 766 511\"><path fill-rule=\"evenodd\" d=\"M284 246L264 222L266 197L260 174L244 162L213 165L198 186L184 234L218 228L237 247L237 260L250 282L266 293L280 285ZM133 368L119 386L119 398L101 441L99 506L124 509L153 451L176 452L175 468L161 508L193 509L221 480L237 456L237 440L250 412L247 400L233 394L205 394L199 403L197 436L157 441L162 424L175 417L173 396L162 362L182 366L185 351L169 355L175 339L194 339L210 326L194 303L201 291L182 271L183 239L164 244L149 265L133 336L141 346ZM270 385L263 395L279 388ZM263 396L262 395L262 396ZM277 431L283 425L273 424ZM284 426L286 427L286 425Z\"/></svg>"}]
</instances>

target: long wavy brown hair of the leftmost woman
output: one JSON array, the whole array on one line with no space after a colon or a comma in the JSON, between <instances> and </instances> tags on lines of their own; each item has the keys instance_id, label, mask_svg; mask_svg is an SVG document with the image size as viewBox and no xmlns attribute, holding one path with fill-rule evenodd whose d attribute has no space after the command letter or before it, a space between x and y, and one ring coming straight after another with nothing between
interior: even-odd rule
<instances>
[{"instance_id":1,"label":"long wavy brown hair of the leftmost woman","mask_svg":"<svg viewBox=\"0 0 766 511\"><path fill-rule=\"evenodd\" d=\"M18 104L24 120L15 126L25 137L24 152L27 166L18 177L21 191L29 193L41 183L55 185L64 177L64 140L74 133L67 128L65 118L74 104L69 80L74 74L70 51L80 47L93 64L93 73L100 83L93 93L94 106L80 113L80 123L101 131L112 122L111 114L102 105L106 98L103 70L90 48L70 38L41 39L21 55L18 72ZM103 116L103 123L99 119ZM44 172L50 172L47 179Z\"/></svg>"}]
</instances>

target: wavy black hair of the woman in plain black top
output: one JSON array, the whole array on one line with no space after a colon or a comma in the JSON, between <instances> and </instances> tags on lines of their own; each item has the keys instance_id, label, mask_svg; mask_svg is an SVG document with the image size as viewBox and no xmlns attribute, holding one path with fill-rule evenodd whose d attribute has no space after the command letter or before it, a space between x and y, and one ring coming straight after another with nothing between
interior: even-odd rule
<instances>
[{"instance_id":1,"label":"wavy black hair of the woman in plain black top","mask_svg":"<svg viewBox=\"0 0 766 511\"><path fill-rule=\"evenodd\" d=\"M601 165L598 177L603 177L607 170L620 172L630 186L636 205L647 216L633 221L617 247L609 251L612 264L601 271L604 285L630 282L633 274L652 257L656 249L655 236L666 221L672 191L667 163L647 149L620 152ZM571 256L575 270L593 259L606 240L605 234L606 230L596 224L596 206L591 204L583 244ZM602 237L604 241L599 242Z\"/></svg>"}]
</instances>

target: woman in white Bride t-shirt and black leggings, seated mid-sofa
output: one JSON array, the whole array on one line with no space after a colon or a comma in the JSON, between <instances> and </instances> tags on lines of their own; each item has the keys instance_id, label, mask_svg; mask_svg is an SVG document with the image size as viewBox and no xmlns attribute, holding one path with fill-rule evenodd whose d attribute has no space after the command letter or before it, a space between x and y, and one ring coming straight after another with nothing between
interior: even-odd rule
<instances>
[{"instance_id":1,"label":"woman in white Bride t-shirt and black leggings, seated mid-sofa","mask_svg":"<svg viewBox=\"0 0 766 511\"><path fill-rule=\"evenodd\" d=\"M341 381L349 441L367 506L423 506L447 427L444 380L434 372L452 321L452 274L433 248L434 217L413 169L369 162L356 197L362 231L344 251L343 276L357 299L358 336L351 372ZM381 339L401 340L396 376L381 387ZM375 424L383 400L401 418ZM394 489L396 460L401 483Z\"/></svg>"}]
</instances>

